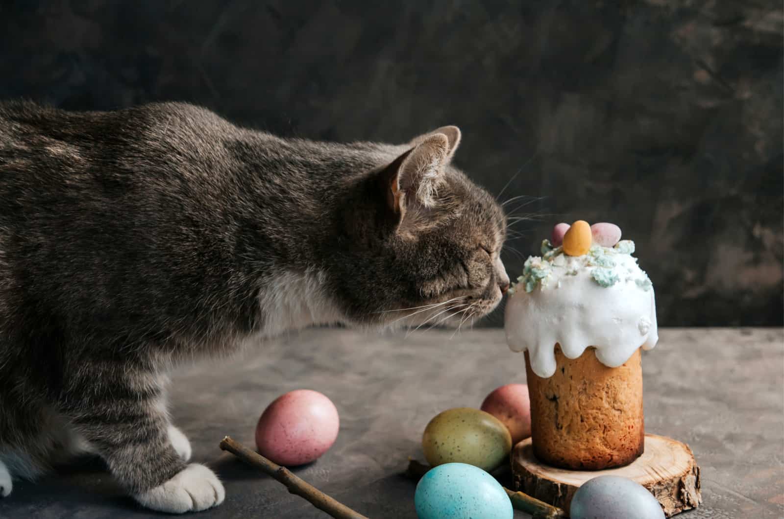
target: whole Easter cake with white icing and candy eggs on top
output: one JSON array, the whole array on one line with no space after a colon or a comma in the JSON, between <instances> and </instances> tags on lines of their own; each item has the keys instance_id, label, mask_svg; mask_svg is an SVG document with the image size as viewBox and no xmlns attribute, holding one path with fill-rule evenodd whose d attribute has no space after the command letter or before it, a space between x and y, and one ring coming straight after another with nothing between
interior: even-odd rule
<instances>
[{"instance_id":1,"label":"whole Easter cake with white icing and candy eggs on top","mask_svg":"<svg viewBox=\"0 0 784 519\"><path fill-rule=\"evenodd\" d=\"M543 463L601 470L644 449L641 349L658 340L654 291L611 223L558 224L506 303L525 352L532 446Z\"/></svg>"}]
</instances>

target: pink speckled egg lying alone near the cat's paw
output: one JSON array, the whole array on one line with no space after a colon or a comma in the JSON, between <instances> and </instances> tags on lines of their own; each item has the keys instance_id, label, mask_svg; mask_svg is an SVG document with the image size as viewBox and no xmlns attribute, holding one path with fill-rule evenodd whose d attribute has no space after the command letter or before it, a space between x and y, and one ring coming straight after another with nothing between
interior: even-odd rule
<instances>
[{"instance_id":1,"label":"pink speckled egg lying alone near the cat's paw","mask_svg":"<svg viewBox=\"0 0 784 519\"><path fill-rule=\"evenodd\" d=\"M256 425L256 447L278 465L310 463L338 437L340 419L332 401L314 390L294 390L272 402Z\"/></svg>"}]
</instances>

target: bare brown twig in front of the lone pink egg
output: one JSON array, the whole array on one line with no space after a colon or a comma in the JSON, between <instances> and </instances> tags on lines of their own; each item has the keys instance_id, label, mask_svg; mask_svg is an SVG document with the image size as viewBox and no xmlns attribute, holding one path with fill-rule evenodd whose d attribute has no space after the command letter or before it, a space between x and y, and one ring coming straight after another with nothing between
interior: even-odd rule
<instances>
[{"instance_id":1,"label":"bare brown twig in front of the lone pink egg","mask_svg":"<svg viewBox=\"0 0 784 519\"><path fill-rule=\"evenodd\" d=\"M309 485L300 477L292 474L285 466L280 466L277 463L271 462L263 455L250 450L245 447L245 445L232 440L228 436L220 441L220 448L224 451L231 452L245 463L261 469L264 474L274 477L285 485L285 487L289 489L289 492L307 499L310 501L310 504L319 510L324 510L327 514L335 517L335 519L368 519L368 517L354 512L354 510L351 510L343 503L339 503L335 499L332 499L324 492L318 490L318 488Z\"/></svg>"}]
</instances>

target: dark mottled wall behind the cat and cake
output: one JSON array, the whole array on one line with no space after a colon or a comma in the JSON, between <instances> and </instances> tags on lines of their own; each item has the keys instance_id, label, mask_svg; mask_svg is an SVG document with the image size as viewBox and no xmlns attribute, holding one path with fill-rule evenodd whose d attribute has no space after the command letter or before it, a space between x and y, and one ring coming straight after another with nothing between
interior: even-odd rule
<instances>
[{"instance_id":1,"label":"dark mottled wall behind the cat and cake","mask_svg":"<svg viewBox=\"0 0 784 519\"><path fill-rule=\"evenodd\" d=\"M519 172L522 254L610 220L663 325L782 325L782 30L779 0L2 0L0 97L328 140L456 124L490 191Z\"/></svg>"}]
</instances>

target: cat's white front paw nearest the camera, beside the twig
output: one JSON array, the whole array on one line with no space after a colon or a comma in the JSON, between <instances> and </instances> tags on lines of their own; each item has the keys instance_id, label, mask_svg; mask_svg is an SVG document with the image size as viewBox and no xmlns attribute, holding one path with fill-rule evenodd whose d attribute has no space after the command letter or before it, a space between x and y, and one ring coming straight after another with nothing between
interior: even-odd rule
<instances>
[{"instance_id":1,"label":"cat's white front paw nearest the camera, beside the twig","mask_svg":"<svg viewBox=\"0 0 784 519\"><path fill-rule=\"evenodd\" d=\"M218 477L204 465L191 463L163 485L133 496L152 510L183 514L223 503L226 491Z\"/></svg>"}]
</instances>

